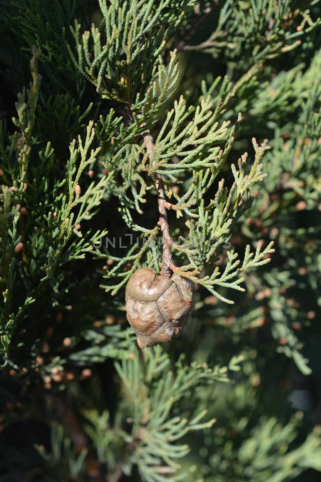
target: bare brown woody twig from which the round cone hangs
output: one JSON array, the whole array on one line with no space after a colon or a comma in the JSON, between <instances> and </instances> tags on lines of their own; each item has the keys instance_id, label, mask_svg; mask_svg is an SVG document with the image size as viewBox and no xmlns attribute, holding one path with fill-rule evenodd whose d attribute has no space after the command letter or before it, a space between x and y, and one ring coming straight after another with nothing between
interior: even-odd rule
<instances>
[{"instance_id":1,"label":"bare brown woody twig from which the round cone hangs","mask_svg":"<svg viewBox=\"0 0 321 482\"><path fill-rule=\"evenodd\" d=\"M141 124L141 126L146 125L145 122ZM142 133L144 138L144 143L148 152L148 156L150 161L152 162L152 166L155 166L155 163L152 159L153 151L154 151L154 139L151 133L147 130ZM162 178L160 174L154 173L153 179L156 187L157 192L157 199L158 199L158 211L159 211L159 225L163 233L163 260L162 260L162 270L161 274L170 277L170 270L175 271L177 267L173 263L173 257L170 250L171 246L171 239L169 234L169 227L168 227L168 220L167 220L167 210L166 204L167 201L165 200L163 185L162 185Z\"/></svg>"}]
</instances>

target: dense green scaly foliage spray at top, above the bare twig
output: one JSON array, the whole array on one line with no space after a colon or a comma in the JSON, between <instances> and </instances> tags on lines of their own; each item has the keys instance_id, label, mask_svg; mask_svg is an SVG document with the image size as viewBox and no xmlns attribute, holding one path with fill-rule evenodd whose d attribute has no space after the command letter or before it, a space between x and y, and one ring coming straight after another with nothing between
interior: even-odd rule
<instances>
[{"instance_id":1,"label":"dense green scaly foliage spray at top, above the bare twig","mask_svg":"<svg viewBox=\"0 0 321 482\"><path fill-rule=\"evenodd\" d=\"M75 28L71 27L78 59L69 46L68 49L76 67L103 98L125 103L130 112L142 110L147 105L150 86L156 78L160 80L162 92L157 107L177 79L177 66L172 69L170 65L167 81L163 84L161 80L166 69L160 53L183 16L183 13L175 14L183 1L178 2L174 10L169 8L169 3L169 0L157 3L154 0L115 0L107 6L106 0L99 0L103 13L99 27L92 25L91 33L85 31L81 41L81 26L76 21ZM167 27L163 28L161 22L165 17ZM156 101L155 84L153 88L152 97Z\"/></svg>"}]
</instances>

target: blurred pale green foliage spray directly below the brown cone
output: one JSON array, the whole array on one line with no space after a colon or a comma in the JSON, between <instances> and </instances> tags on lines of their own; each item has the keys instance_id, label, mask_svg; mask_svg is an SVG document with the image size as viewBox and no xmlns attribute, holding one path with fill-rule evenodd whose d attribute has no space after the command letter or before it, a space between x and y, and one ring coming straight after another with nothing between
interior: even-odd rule
<instances>
[{"instance_id":1,"label":"blurred pale green foliage spray directly below the brown cone","mask_svg":"<svg viewBox=\"0 0 321 482\"><path fill-rule=\"evenodd\" d=\"M94 442L99 462L106 464L111 474L120 467L130 475L135 464L142 480L147 482L185 480L196 467L178 472L178 459L187 455L190 448L177 441L190 431L211 428L215 419L203 420L207 410L186 410L184 416L174 415L175 407L188 402L195 390L217 382L229 382L228 371L238 371L244 357L233 357L228 367L210 368L206 363L187 365L182 355L175 370L171 370L169 356L159 346L144 350L143 360L140 360L140 351L133 343L128 344L128 350L128 356L115 363L122 381L122 400L117 419L112 424L107 410L101 415L95 410L84 411L87 435ZM130 427L128 431L122 428L125 421ZM75 458L69 439L62 437L62 430L61 427L52 428L52 453L40 453L55 465L59 463L63 450L71 473L79 477L86 451ZM133 449L129 459L123 463L121 454L119 458L114 455L119 444Z\"/></svg>"}]
</instances>

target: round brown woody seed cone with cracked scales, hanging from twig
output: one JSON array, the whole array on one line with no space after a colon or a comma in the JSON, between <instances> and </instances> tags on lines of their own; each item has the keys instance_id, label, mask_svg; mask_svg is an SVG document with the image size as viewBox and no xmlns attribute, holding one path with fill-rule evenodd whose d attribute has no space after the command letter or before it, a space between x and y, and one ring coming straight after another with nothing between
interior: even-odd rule
<instances>
[{"instance_id":1,"label":"round brown woody seed cone with cracked scales, hanging from twig","mask_svg":"<svg viewBox=\"0 0 321 482\"><path fill-rule=\"evenodd\" d=\"M145 347L175 340L194 309L194 283L141 268L126 286L127 319Z\"/></svg>"}]
</instances>

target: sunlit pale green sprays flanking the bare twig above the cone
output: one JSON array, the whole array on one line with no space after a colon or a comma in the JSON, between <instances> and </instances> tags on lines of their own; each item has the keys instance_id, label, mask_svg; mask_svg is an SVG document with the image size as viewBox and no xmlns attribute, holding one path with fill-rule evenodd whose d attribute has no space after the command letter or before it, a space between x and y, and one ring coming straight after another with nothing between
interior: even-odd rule
<instances>
[{"instance_id":1,"label":"sunlit pale green sprays flanking the bare twig above the cone","mask_svg":"<svg viewBox=\"0 0 321 482\"><path fill-rule=\"evenodd\" d=\"M221 138L225 137L227 126L223 123L223 126L221 127L222 131L220 131L220 129L215 130L218 127L218 123L213 124L213 122L217 117L224 113L224 107L228 105L230 98L231 95L228 95L224 103L218 103L216 111L219 113L214 113L213 116L212 112L209 110L211 103L209 103L208 100L207 102L202 101L202 109L200 110L198 107L196 108L194 119L188 123L187 127L185 127L183 131L178 134L178 136L175 134L179 123L178 120L176 121L174 118L171 130L167 136L161 140L162 133L160 133L156 139L154 148L155 156L153 155L152 159L153 166L149 167L149 174L152 178L153 172L159 172L166 173L168 176L172 175L171 179L173 179L173 174L180 174L182 172L186 172L188 169L193 169L193 181L186 194L184 194L184 196L181 198L177 194L174 194L177 203L167 203L167 207L169 209L176 210L178 216L181 216L182 213L185 212L187 217L197 219L197 221L193 221L193 219L186 221L186 226L189 229L188 237L190 240L192 240L193 246L190 247L185 241L182 246L177 243L173 243L173 248L178 253L185 254L189 260L189 264L180 267L180 272L183 272L184 274L187 273L193 281L198 281L196 275L206 268L213 261L213 259L215 259L215 257L221 251L223 243L229 241L231 237L231 229L235 221L238 220L247 209L249 209L253 202L249 187L257 181L262 181L264 177L264 174L262 174L262 164L260 163L260 160L265 150L267 150L269 147L267 146L266 141L262 144L262 146L258 146L254 139L253 145L255 148L256 157L249 174L245 174L245 169L247 167L247 153L245 153L242 159L239 161L239 170L236 171L235 167L232 166L232 174L234 175L235 183L232 185L230 192L228 192L227 188L223 187L224 181L221 181L219 183L219 188L215 199L210 201L208 205L204 204L203 196L213 184L222 165L224 164L228 153L231 150L234 136L238 132L240 122L243 120L239 114L238 120L235 122L228 135L224 150L220 149L219 147L211 147L213 143L215 144L216 142L219 142ZM176 103L175 109L180 123L183 122L189 115L189 112L184 114L185 108L184 100L182 98L180 99L180 104ZM189 111L191 111L191 108ZM174 110L168 114L167 123L170 120L173 112ZM204 124L202 127L198 128L198 124L201 122L204 122ZM166 130L167 123L165 124L163 132ZM211 124L213 124L212 127ZM186 139L185 143L184 139ZM186 148L188 150L185 150ZM129 158L128 164L128 158L124 158L124 152L126 151L125 148L123 148L118 155L119 157L115 156L113 162L106 164L106 167L109 169L115 169L117 167L119 170L121 170L124 178L125 175L128 176L127 169L129 168L130 178L128 179L128 183L125 182L121 189L118 188L116 190L113 188L113 190L114 193L120 198L121 203L124 203L124 207L121 208L120 212L128 226L133 230L140 230L142 232L142 236L145 237L145 243L137 254L132 254L135 249L135 244L133 244L127 256L119 259L111 256L107 250L106 254L100 254L100 257L108 257L117 261L116 266L113 267L107 274L104 274L104 278L114 278L115 276L122 278L122 281L120 281L118 284L104 286L106 291L113 290L113 294L115 294L118 289L127 282L131 274L141 265L141 261L147 254L148 249L152 252L154 251L154 254L157 251L157 242L153 243L155 233L158 231L157 226L154 228L154 230L146 230L134 225L132 223L129 211L130 208L136 208L138 212L142 213L141 209L137 209L139 208L138 202L145 202L143 196L148 189L140 174L141 169L144 169L144 167L141 168L141 164L138 164L141 150L142 148L139 148L138 146L130 147L130 150L128 150L128 153L130 152L131 155L136 157L136 159L134 158L136 161L135 163ZM186 157L184 157L185 155ZM172 158L173 156L179 156L182 158L182 161L179 163L168 163L167 165L167 159ZM118 166L115 165L117 161L119 162ZM147 156L145 154L142 160L143 166L146 161ZM134 175L133 171L136 163L138 166ZM164 166L166 170L163 170L161 168L162 166ZM133 187L135 187L137 182L136 180L141 184L140 193L133 190ZM128 187L131 188L135 200L134 202L130 201L125 194ZM170 191L169 196L170 195L173 195L172 191ZM216 240L215 244L213 243L213 239ZM218 268L216 268L211 276L206 276L198 282L200 282L200 284L204 284L211 291L211 293L217 295L220 297L220 299L231 303L231 301L221 297L216 291L214 291L213 285L229 285L235 289L242 289L239 287L239 283L243 281L242 278L238 278L237 280L229 283L227 283L227 281L232 277L237 276L241 271L244 271L247 268L267 263L269 258L264 260L262 258L266 254L269 254L273 251L271 249L271 245L272 243L270 243L270 245L261 253L259 248L257 248L256 256L253 260L251 260L251 262L249 262L249 259L253 254L245 254L242 268L237 268L231 272L231 270L236 268L236 266L239 264L239 261L231 264L232 259L230 259L225 273L221 277L218 278L219 271ZM104 247L107 248L107 246ZM237 254L234 254L233 252L231 255L234 258L237 256ZM152 258L150 259L154 264ZM122 266L128 261L132 262L131 269L125 273L119 272Z\"/></svg>"}]
</instances>

